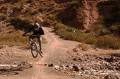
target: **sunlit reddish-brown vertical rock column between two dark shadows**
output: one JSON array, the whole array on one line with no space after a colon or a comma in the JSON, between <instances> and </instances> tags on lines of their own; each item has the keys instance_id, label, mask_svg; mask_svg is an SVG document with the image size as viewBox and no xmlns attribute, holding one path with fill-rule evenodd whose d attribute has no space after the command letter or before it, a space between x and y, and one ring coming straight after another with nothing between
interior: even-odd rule
<instances>
[{"instance_id":1,"label":"sunlit reddish-brown vertical rock column between two dark shadows","mask_svg":"<svg viewBox=\"0 0 120 79\"><path fill-rule=\"evenodd\" d=\"M83 29L89 30L91 25L97 21L99 17L96 7L98 2L99 0L83 0L81 2L82 6L77 10L77 20L79 23L81 23L82 20L82 26L79 27L83 27Z\"/></svg>"}]
</instances>

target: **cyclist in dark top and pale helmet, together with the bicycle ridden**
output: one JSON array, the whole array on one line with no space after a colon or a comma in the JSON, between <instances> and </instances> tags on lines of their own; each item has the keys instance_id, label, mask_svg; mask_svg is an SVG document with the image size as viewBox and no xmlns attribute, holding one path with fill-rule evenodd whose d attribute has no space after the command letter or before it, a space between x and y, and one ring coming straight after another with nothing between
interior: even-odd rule
<instances>
[{"instance_id":1,"label":"cyclist in dark top and pale helmet, together with the bicycle ridden","mask_svg":"<svg viewBox=\"0 0 120 79\"><path fill-rule=\"evenodd\" d=\"M42 57L42 50L41 50L41 40L40 37L41 35L44 35L44 30L42 29L42 23L43 19L42 18L35 18L34 24L30 24L27 31L23 34L23 36L29 36L29 44L31 48L31 53L34 58L37 57L38 53ZM29 35L27 35L29 33ZM32 33L32 34L31 34ZM34 51L34 52L33 52ZM34 53L36 52L36 55Z\"/></svg>"}]
</instances>

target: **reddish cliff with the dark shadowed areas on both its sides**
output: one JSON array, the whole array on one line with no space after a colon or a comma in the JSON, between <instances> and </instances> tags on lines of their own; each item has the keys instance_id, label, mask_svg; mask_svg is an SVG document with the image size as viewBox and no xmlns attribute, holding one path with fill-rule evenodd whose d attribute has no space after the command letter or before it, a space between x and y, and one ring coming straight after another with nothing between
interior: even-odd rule
<instances>
[{"instance_id":1,"label":"reddish cliff with the dark shadowed areas on both its sides","mask_svg":"<svg viewBox=\"0 0 120 79\"><path fill-rule=\"evenodd\" d=\"M59 14L62 22L82 30L89 31L94 28L93 25L101 16L107 24L120 21L119 0L57 0L57 2L67 5Z\"/></svg>"}]
</instances>

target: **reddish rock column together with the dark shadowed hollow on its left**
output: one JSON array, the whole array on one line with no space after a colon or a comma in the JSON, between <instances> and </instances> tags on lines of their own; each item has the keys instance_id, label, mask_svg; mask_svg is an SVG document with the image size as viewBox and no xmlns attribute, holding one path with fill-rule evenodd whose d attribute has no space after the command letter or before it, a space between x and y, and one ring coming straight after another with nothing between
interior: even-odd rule
<instances>
[{"instance_id":1,"label":"reddish rock column together with the dark shadowed hollow on its left","mask_svg":"<svg viewBox=\"0 0 120 79\"><path fill-rule=\"evenodd\" d=\"M92 24L94 24L99 17L97 4L101 2L101 0L80 0L80 1L75 0L75 1L74 2L71 1L72 6L69 5L66 7L64 11L62 11L61 17L63 23L67 23L70 26L76 26L77 28L80 29L90 30L90 28L92 28L91 27Z\"/></svg>"}]
</instances>

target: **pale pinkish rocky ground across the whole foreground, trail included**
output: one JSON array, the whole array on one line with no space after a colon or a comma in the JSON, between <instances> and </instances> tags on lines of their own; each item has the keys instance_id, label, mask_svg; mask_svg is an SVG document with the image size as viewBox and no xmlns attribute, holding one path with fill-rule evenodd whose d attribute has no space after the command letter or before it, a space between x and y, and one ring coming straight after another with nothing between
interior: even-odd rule
<instances>
[{"instance_id":1,"label":"pale pinkish rocky ground across the whole foreground, trail included","mask_svg":"<svg viewBox=\"0 0 120 79\"><path fill-rule=\"evenodd\" d=\"M119 79L120 50L62 40L52 29L44 30L42 58L32 58L24 47L1 47L0 79Z\"/></svg>"}]
</instances>

